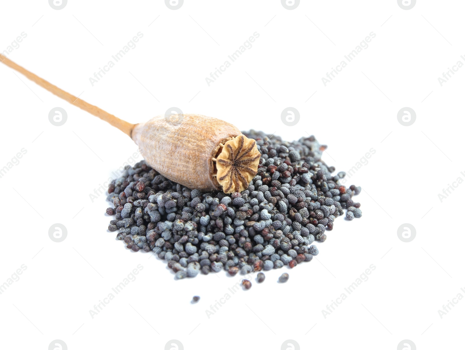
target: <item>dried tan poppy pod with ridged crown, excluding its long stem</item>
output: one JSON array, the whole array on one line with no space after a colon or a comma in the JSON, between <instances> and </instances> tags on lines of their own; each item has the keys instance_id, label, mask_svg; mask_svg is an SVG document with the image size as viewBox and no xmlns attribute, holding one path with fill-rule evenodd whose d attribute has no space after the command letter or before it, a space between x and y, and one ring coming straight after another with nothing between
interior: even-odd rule
<instances>
[{"instance_id":1,"label":"dried tan poppy pod with ridged crown, excluding its long stem","mask_svg":"<svg viewBox=\"0 0 465 350\"><path fill-rule=\"evenodd\" d=\"M132 138L149 165L189 188L212 191L223 185L223 191L231 193L247 188L257 172L260 154L255 141L220 119L199 114L173 115L169 119L157 116L137 124ZM252 154L258 158L250 160ZM233 160L239 163L231 163ZM232 182L225 177L231 168L243 174L234 171Z\"/></svg>"}]
</instances>

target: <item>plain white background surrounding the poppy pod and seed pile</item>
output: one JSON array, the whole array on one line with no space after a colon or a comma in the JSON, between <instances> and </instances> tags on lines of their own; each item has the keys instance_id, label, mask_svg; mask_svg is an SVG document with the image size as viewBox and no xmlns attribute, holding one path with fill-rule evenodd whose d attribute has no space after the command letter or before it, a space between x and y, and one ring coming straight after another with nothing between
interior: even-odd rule
<instances>
[{"instance_id":1,"label":"plain white background surrounding the poppy pod and seed pile","mask_svg":"<svg viewBox=\"0 0 465 350\"><path fill-rule=\"evenodd\" d=\"M164 261L126 250L106 230L105 195L90 199L137 151L133 141L0 65L0 167L27 150L0 178L0 284L27 266L0 295L0 347L47 349L54 339L70 350L165 349L170 339L186 350L280 349L286 339L300 349L394 350L403 339L418 349L463 346L465 301L438 314L465 296L465 185L438 198L465 179L465 68L438 82L465 63L463 11L462 1L432 0L411 10L396 0L301 1L294 10L279 0L185 0L178 10L161 0L69 0L62 10L46 0L3 1L0 51L27 33L9 59L122 119L141 122L176 106L283 139L314 134L337 172L376 153L346 183L362 186L363 217L337 218L312 262L267 271L263 284L252 280L235 294L228 288L241 277L224 271L176 281ZM138 32L137 46L92 86L93 73ZM252 48L208 86L210 72L254 32ZM368 48L324 86L371 32ZM280 117L289 106L300 112L292 127ZM397 119L406 106L416 112L411 126ZM62 126L48 120L55 107L67 112ZM48 237L55 223L67 228L61 243ZM416 228L410 243L397 235L404 223ZM138 264L137 278L92 318L89 310ZM371 264L348 295L344 288ZM290 279L278 284L283 272Z\"/></svg>"}]
</instances>

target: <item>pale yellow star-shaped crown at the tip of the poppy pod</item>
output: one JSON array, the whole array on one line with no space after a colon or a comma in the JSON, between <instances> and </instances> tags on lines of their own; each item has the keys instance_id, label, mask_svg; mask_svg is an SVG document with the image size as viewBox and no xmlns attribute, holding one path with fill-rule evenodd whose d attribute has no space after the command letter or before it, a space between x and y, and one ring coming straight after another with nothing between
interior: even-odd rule
<instances>
[{"instance_id":1,"label":"pale yellow star-shaped crown at the tip of the poppy pod","mask_svg":"<svg viewBox=\"0 0 465 350\"><path fill-rule=\"evenodd\" d=\"M216 179L223 187L223 192L244 191L257 175L259 161L260 152L255 140L238 135L226 141L216 157Z\"/></svg>"}]
</instances>

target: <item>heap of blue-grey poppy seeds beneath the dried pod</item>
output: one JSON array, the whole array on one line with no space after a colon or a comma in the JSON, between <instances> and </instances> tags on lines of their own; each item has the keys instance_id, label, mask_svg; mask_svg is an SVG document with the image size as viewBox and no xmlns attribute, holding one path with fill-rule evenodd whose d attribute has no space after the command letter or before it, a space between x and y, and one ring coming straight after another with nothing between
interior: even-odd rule
<instances>
[{"instance_id":1,"label":"heap of blue-grey poppy seeds beneath the dried pod","mask_svg":"<svg viewBox=\"0 0 465 350\"><path fill-rule=\"evenodd\" d=\"M360 218L352 200L361 188L340 184L321 160L326 149L313 137L298 141L244 132L261 153L257 175L243 192L200 192L160 175L145 161L128 167L109 185L107 200L116 214L109 231L119 230L133 251L157 254L177 278L226 270L235 275L295 267L311 261L334 219Z\"/></svg>"}]
</instances>

